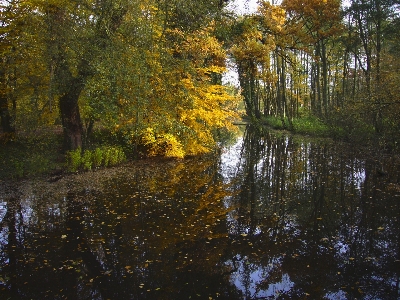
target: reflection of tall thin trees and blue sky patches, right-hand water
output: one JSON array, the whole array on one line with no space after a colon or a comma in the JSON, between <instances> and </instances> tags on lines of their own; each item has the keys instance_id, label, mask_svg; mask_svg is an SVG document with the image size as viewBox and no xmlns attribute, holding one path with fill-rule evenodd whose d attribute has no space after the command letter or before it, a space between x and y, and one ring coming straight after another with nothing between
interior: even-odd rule
<instances>
[{"instance_id":1,"label":"reflection of tall thin trees and blue sky patches, right-hand water","mask_svg":"<svg viewBox=\"0 0 400 300\"><path fill-rule=\"evenodd\" d=\"M227 263L248 298L399 296L399 201L341 147L247 129Z\"/></svg>"}]
</instances>

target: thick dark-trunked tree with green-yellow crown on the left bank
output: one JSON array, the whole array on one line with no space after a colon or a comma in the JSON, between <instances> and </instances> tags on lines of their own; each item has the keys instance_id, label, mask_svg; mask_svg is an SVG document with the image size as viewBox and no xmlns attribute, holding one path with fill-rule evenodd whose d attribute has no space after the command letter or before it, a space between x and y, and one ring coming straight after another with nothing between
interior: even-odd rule
<instances>
[{"instance_id":1,"label":"thick dark-trunked tree with green-yellow crown on the left bank","mask_svg":"<svg viewBox=\"0 0 400 300\"><path fill-rule=\"evenodd\" d=\"M40 3L48 20L47 51L59 95L60 117L67 149L82 147L79 97L94 75L94 62L112 46L126 13L124 1Z\"/></svg>"}]
</instances>

